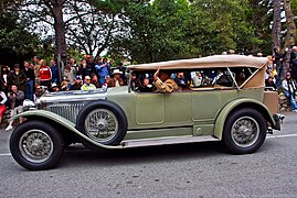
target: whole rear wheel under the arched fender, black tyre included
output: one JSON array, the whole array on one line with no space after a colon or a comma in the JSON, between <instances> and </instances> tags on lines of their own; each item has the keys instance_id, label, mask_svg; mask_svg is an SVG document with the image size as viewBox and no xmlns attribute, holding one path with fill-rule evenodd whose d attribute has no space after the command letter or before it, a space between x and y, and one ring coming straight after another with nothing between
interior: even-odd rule
<instances>
[{"instance_id":1,"label":"whole rear wheel under the arched fender, black tyre included","mask_svg":"<svg viewBox=\"0 0 297 198\"><path fill-rule=\"evenodd\" d=\"M266 121L263 116L250 108L234 111L226 120L223 142L234 154L247 154L257 151L266 138Z\"/></svg>"}]
</instances>

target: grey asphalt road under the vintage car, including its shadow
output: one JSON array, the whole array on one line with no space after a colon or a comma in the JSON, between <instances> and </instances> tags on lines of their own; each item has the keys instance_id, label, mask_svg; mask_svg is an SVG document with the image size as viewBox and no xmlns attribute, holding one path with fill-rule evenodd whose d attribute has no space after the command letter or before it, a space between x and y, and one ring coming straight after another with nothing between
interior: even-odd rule
<instances>
[{"instance_id":1,"label":"grey asphalt road under the vintage car, including its shadow","mask_svg":"<svg viewBox=\"0 0 297 198\"><path fill-rule=\"evenodd\" d=\"M92 153L67 148L55 169L29 172L0 130L0 197L279 197L297 198L297 113L261 150L231 155L220 143Z\"/></svg>"}]
</instances>

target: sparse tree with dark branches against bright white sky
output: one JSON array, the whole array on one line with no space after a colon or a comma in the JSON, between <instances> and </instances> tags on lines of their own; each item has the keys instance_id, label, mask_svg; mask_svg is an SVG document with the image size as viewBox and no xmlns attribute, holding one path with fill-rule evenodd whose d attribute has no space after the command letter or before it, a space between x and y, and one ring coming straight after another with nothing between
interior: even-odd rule
<instances>
[{"instance_id":1,"label":"sparse tree with dark branches against bright white sky","mask_svg":"<svg viewBox=\"0 0 297 198\"><path fill-rule=\"evenodd\" d=\"M73 15L65 21L68 45L86 54L98 56L112 40L126 32L121 29L121 10L115 2L89 4L82 1L65 2L65 14Z\"/></svg>"}]
</instances>

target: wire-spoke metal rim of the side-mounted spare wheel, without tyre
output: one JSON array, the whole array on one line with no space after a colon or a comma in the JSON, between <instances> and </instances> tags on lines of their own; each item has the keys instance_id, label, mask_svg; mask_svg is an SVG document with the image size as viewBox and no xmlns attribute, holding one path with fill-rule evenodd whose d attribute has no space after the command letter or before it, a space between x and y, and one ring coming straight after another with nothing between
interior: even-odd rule
<instances>
[{"instance_id":1,"label":"wire-spoke metal rim of the side-mounted spare wheel, without tyre","mask_svg":"<svg viewBox=\"0 0 297 198\"><path fill-rule=\"evenodd\" d=\"M85 130L97 142L112 140L118 131L116 116L107 109L95 109L85 120Z\"/></svg>"}]
</instances>

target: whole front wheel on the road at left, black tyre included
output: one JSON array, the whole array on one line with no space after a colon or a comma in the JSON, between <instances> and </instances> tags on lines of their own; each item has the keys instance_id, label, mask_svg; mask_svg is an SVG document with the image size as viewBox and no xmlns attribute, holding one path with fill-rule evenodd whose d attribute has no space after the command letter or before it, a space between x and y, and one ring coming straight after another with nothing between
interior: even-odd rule
<instances>
[{"instance_id":1,"label":"whole front wheel on the road at left, black tyre included","mask_svg":"<svg viewBox=\"0 0 297 198\"><path fill-rule=\"evenodd\" d=\"M63 138L49 123L26 121L10 138L12 157L31 170L54 167L63 154Z\"/></svg>"}]
</instances>

